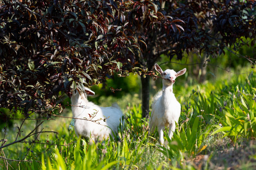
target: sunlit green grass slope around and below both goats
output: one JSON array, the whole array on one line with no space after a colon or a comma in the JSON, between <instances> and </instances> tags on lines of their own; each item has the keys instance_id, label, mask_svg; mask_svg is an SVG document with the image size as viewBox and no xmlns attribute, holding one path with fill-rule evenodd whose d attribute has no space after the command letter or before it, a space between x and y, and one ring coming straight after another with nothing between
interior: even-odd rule
<instances>
[{"instance_id":1,"label":"sunlit green grass slope around and below both goats","mask_svg":"<svg viewBox=\"0 0 256 170\"><path fill-rule=\"evenodd\" d=\"M156 130L148 135L148 119L141 116L138 96L134 100L124 96L117 102L124 102L121 105L126 126L116 140L88 144L69 127L71 119L56 118L45 121L42 131L56 131L57 135L42 133L34 144L29 143L32 136L26 139L27 143L3 148L5 156L0 156L32 161L7 161L9 169L20 170L255 169L256 71L243 70L251 73L223 75L204 85L174 87L182 111L173 138L165 137L165 147L158 144ZM107 103L108 99L104 101ZM71 117L72 113L66 109L62 115ZM8 142L15 139L20 124L15 120L7 128ZM34 127L35 120L25 121L20 137ZM2 130L0 138L3 134ZM0 169L5 170L7 162L0 159Z\"/></svg>"}]
</instances>

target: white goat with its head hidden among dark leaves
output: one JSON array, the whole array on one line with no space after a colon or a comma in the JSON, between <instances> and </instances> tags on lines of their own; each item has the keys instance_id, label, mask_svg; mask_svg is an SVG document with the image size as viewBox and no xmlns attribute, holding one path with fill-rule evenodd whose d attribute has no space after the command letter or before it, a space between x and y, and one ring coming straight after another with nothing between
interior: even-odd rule
<instances>
[{"instance_id":1,"label":"white goat with its head hidden among dark leaves","mask_svg":"<svg viewBox=\"0 0 256 170\"><path fill-rule=\"evenodd\" d=\"M91 142L116 133L123 116L117 104L112 107L99 107L89 102L87 96L93 95L95 93L85 87L85 93L75 90L71 96L73 117L77 118L76 135L91 138Z\"/></svg>"}]
</instances>

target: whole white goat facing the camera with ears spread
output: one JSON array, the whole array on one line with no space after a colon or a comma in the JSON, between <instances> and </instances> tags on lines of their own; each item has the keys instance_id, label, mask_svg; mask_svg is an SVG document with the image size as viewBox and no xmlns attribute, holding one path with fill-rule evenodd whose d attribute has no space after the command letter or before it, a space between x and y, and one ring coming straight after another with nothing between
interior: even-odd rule
<instances>
[{"instance_id":1,"label":"whole white goat facing the camera with ears spread","mask_svg":"<svg viewBox=\"0 0 256 170\"><path fill-rule=\"evenodd\" d=\"M165 127L170 127L168 136L173 136L176 124L180 118L180 103L175 98L172 91L172 86L177 76L185 74L186 68L178 71L177 73L172 69L162 71L158 64L155 64L155 69L162 77L162 90L154 96L152 103L152 113L149 121L150 134L158 127L159 141L162 145L163 130Z\"/></svg>"}]
</instances>

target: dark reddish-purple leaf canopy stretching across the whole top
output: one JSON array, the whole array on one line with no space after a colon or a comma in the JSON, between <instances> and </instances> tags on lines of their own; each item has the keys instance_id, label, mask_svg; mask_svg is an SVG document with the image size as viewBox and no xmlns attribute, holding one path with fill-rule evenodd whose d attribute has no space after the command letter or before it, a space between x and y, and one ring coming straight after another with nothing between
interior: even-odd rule
<instances>
[{"instance_id":1,"label":"dark reddish-purple leaf canopy stretching across the whole top","mask_svg":"<svg viewBox=\"0 0 256 170\"><path fill-rule=\"evenodd\" d=\"M63 94L71 96L76 88L83 91L83 83L95 85L113 74L127 76L135 66L151 75L148 70L161 54L182 59L193 49L210 55L255 44L252 1L0 4L0 107L25 115L63 109Z\"/></svg>"}]
</instances>

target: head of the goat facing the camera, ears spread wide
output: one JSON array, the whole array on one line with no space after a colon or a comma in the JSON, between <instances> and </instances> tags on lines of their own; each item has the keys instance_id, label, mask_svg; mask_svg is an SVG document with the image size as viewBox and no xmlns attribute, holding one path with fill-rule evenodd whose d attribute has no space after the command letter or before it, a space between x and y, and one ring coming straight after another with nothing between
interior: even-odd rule
<instances>
[{"instance_id":1,"label":"head of the goat facing the camera, ears spread wide","mask_svg":"<svg viewBox=\"0 0 256 170\"><path fill-rule=\"evenodd\" d=\"M163 71L158 64L155 64L155 69L161 74L163 79L163 85L169 86L175 83L175 79L177 76L181 76L186 73L186 68L178 71L177 73L173 69L167 69Z\"/></svg>"}]
</instances>

